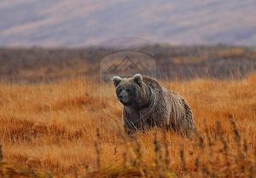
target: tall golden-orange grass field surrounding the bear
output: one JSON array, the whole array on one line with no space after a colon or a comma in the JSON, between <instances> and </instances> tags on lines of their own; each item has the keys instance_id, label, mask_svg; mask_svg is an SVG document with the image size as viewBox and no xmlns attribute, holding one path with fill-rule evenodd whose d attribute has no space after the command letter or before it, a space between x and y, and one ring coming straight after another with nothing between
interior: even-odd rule
<instances>
[{"instance_id":1,"label":"tall golden-orange grass field surrounding the bear","mask_svg":"<svg viewBox=\"0 0 256 178\"><path fill-rule=\"evenodd\" d=\"M256 74L161 84L188 100L198 130L194 138L160 129L128 138L112 84L90 78L1 82L0 175L255 176Z\"/></svg>"}]
</instances>

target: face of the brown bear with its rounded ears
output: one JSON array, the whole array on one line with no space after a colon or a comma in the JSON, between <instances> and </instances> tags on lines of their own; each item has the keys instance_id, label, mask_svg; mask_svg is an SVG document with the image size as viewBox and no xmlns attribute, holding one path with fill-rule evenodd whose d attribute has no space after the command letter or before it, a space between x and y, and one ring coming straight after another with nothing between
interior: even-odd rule
<instances>
[{"instance_id":1,"label":"face of the brown bear with its rounded ears","mask_svg":"<svg viewBox=\"0 0 256 178\"><path fill-rule=\"evenodd\" d=\"M113 77L117 98L124 106L131 106L138 102L143 92L142 83L143 77L140 74L133 78Z\"/></svg>"}]
</instances>

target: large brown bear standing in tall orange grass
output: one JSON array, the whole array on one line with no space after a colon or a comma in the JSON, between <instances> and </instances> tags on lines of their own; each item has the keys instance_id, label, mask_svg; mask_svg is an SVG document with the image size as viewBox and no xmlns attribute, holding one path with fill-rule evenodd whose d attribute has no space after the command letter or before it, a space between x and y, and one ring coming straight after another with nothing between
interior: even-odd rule
<instances>
[{"instance_id":1,"label":"large brown bear standing in tall orange grass","mask_svg":"<svg viewBox=\"0 0 256 178\"><path fill-rule=\"evenodd\" d=\"M128 135L137 130L163 127L190 135L193 114L186 100L160 86L154 78L136 74L133 78L113 77L118 100L124 105L123 123Z\"/></svg>"}]
</instances>

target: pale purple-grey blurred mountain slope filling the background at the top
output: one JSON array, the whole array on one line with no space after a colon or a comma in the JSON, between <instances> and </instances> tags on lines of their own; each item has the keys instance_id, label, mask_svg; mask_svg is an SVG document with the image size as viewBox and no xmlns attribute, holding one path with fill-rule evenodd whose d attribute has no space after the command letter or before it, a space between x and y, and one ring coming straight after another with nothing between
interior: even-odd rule
<instances>
[{"instance_id":1,"label":"pale purple-grey blurred mountain slope filling the background at the top","mask_svg":"<svg viewBox=\"0 0 256 178\"><path fill-rule=\"evenodd\" d=\"M255 0L11 0L0 46L85 46L114 37L174 44L256 44Z\"/></svg>"}]
</instances>

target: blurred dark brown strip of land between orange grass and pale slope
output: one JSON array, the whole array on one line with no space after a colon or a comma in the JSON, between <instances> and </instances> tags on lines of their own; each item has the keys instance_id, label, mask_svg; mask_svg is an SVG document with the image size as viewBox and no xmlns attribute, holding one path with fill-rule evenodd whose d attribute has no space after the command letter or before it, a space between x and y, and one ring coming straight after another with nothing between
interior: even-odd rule
<instances>
[{"instance_id":1,"label":"blurred dark brown strip of land between orange grass and pale slope","mask_svg":"<svg viewBox=\"0 0 256 178\"><path fill-rule=\"evenodd\" d=\"M256 51L244 47L144 45L125 49L155 60L158 78L241 78L256 70ZM0 76L37 83L99 76L104 57L124 49L0 49Z\"/></svg>"}]
</instances>

